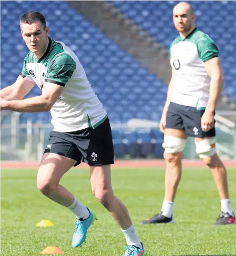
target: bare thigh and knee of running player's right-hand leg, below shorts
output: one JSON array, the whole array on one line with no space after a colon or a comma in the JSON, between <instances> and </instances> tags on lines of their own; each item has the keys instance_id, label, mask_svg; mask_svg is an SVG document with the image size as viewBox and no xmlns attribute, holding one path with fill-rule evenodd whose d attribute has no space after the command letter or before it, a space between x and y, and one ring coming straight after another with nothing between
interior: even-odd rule
<instances>
[{"instance_id":1,"label":"bare thigh and knee of running player's right-hand leg, below shorts","mask_svg":"<svg viewBox=\"0 0 236 256\"><path fill-rule=\"evenodd\" d=\"M97 198L112 194L110 165L90 166L90 183Z\"/></svg>"}]
</instances>

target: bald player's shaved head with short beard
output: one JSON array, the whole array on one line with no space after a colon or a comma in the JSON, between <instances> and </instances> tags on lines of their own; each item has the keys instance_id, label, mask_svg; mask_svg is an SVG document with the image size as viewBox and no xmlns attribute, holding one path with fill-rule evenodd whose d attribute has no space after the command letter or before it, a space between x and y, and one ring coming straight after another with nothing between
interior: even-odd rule
<instances>
[{"instance_id":1,"label":"bald player's shaved head with short beard","mask_svg":"<svg viewBox=\"0 0 236 256\"><path fill-rule=\"evenodd\" d=\"M182 37L188 35L195 26L193 8L186 2L180 2L173 8L173 23Z\"/></svg>"}]
</instances>

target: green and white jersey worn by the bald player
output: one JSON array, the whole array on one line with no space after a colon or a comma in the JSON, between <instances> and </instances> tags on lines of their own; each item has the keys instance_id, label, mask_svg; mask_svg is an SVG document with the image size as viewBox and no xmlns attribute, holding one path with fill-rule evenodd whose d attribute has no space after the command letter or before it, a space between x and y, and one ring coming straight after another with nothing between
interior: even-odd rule
<instances>
[{"instance_id":1,"label":"green and white jersey worn by the bald player","mask_svg":"<svg viewBox=\"0 0 236 256\"><path fill-rule=\"evenodd\" d=\"M173 67L173 103L197 109L207 106L211 78L203 64L217 57L218 53L211 38L197 28L186 38L178 36L172 42L170 63Z\"/></svg>"}]
</instances>

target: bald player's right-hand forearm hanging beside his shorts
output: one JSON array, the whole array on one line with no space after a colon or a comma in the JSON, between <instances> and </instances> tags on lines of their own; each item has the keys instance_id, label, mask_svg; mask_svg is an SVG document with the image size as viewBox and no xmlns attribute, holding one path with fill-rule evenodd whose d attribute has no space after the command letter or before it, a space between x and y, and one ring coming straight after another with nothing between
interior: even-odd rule
<instances>
[{"instance_id":1,"label":"bald player's right-hand forearm hanging beside his shorts","mask_svg":"<svg viewBox=\"0 0 236 256\"><path fill-rule=\"evenodd\" d=\"M216 109L224 83L223 75L211 77L210 94L206 111L213 112Z\"/></svg>"}]
</instances>

